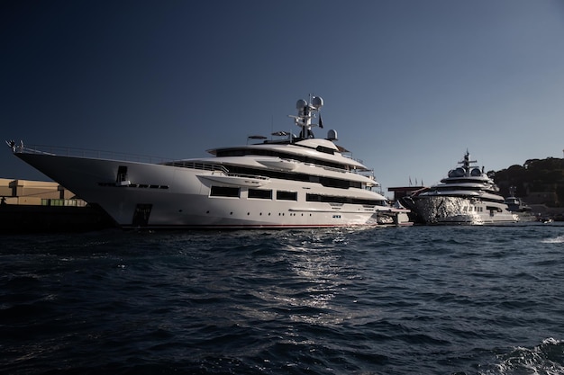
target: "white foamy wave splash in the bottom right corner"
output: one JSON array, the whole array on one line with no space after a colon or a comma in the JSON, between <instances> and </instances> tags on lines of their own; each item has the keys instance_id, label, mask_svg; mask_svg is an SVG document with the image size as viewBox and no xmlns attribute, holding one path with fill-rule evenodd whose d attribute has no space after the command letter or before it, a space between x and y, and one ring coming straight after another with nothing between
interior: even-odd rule
<instances>
[{"instance_id":1,"label":"white foamy wave splash in the bottom right corner","mask_svg":"<svg viewBox=\"0 0 564 375\"><path fill-rule=\"evenodd\" d=\"M516 347L510 353L497 356L500 363L486 366L483 375L539 374L556 375L564 373L564 342L552 337L544 339L532 349Z\"/></svg>"}]
</instances>

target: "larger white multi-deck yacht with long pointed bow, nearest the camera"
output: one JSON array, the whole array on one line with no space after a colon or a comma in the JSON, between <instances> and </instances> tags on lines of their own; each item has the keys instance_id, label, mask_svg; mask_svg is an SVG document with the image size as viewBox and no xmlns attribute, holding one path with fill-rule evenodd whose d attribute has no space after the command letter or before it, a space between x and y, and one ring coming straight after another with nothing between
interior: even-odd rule
<instances>
[{"instance_id":1,"label":"larger white multi-deck yacht with long pointed bow, nearest the camera","mask_svg":"<svg viewBox=\"0 0 564 375\"><path fill-rule=\"evenodd\" d=\"M320 228L409 225L387 205L371 170L323 128L321 97L299 100L299 136L277 132L257 144L208 150L211 157L151 162L91 151L9 142L15 156L122 228ZM317 119L317 120L316 120ZM315 121L315 123L314 123ZM403 218L403 219L402 219Z\"/></svg>"}]
</instances>

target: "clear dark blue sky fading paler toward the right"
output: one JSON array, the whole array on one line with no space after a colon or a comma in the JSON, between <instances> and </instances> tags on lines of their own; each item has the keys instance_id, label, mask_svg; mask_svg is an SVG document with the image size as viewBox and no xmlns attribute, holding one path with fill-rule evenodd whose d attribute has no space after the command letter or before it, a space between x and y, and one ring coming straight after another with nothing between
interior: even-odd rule
<instances>
[{"instance_id":1,"label":"clear dark blue sky fading paler toward the right","mask_svg":"<svg viewBox=\"0 0 564 375\"><path fill-rule=\"evenodd\" d=\"M467 148L487 170L564 149L559 0L15 0L0 21L3 136L28 144L206 156L296 131L316 94L385 188ZM45 179L8 147L0 177Z\"/></svg>"}]
</instances>

